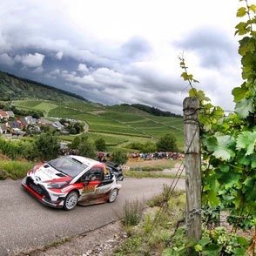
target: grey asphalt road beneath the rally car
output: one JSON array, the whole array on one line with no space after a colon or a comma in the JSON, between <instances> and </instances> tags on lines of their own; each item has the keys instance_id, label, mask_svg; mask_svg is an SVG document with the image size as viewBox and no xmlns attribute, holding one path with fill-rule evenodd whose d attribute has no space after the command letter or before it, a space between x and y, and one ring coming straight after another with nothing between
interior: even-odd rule
<instances>
[{"instance_id":1,"label":"grey asphalt road beneath the rally car","mask_svg":"<svg viewBox=\"0 0 256 256\"><path fill-rule=\"evenodd\" d=\"M122 216L125 200L149 199L163 191L163 184L171 183L172 179L126 178L114 203L77 206L66 212L42 205L24 190L21 180L0 181L0 255L14 255L103 226ZM179 180L177 188L185 189L185 180Z\"/></svg>"}]
</instances>

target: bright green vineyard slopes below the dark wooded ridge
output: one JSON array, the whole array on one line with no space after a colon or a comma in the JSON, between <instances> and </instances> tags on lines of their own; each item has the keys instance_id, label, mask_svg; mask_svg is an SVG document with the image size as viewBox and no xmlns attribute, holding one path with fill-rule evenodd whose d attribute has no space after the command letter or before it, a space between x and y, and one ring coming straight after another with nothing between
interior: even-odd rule
<instances>
[{"instance_id":1,"label":"bright green vineyard slopes below the dark wooded ridge","mask_svg":"<svg viewBox=\"0 0 256 256\"><path fill-rule=\"evenodd\" d=\"M184 148L183 119L153 116L129 105L104 106L90 102L51 102L36 99L16 101L19 108L47 112L47 118L84 120L89 125L89 136L104 138L113 148L123 148L131 142L145 143L172 132L180 150ZM71 141L73 138L64 137Z\"/></svg>"}]
</instances>

